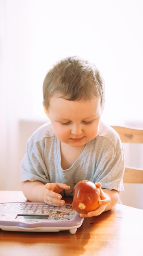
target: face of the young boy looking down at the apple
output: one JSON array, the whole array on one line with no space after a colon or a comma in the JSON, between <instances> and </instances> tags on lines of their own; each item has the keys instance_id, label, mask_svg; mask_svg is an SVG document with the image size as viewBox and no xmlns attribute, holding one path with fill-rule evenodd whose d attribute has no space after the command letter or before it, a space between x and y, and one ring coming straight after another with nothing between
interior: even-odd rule
<instances>
[{"instance_id":1,"label":"face of the young boy looking down at the apple","mask_svg":"<svg viewBox=\"0 0 143 256\"><path fill-rule=\"evenodd\" d=\"M72 147L84 146L97 136L102 111L98 97L87 101L53 97L45 109L56 137Z\"/></svg>"}]
</instances>

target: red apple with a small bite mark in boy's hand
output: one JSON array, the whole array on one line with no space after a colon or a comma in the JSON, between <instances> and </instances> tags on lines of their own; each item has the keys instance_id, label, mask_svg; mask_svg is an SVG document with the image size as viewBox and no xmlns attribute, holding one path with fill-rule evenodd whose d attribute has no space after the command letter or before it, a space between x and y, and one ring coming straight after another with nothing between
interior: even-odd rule
<instances>
[{"instance_id":1,"label":"red apple with a small bite mark in boy's hand","mask_svg":"<svg viewBox=\"0 0 143 256\"><path fill-rule=\"evenodd\" d=\"M94 211L99 206L101 183L82 180L74 186L72 208L79 213Z\"/></svg>"}]
</instances>

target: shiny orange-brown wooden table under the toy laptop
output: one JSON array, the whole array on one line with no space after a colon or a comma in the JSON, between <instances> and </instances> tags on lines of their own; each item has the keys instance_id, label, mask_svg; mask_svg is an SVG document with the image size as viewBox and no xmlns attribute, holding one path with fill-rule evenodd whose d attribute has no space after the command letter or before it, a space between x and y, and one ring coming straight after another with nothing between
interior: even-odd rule
<instances>
[{"instance_id":1,"label":"shiny orange-brown wooden table under the toy laptop","mask_svg":"<svg viewBox=\"0 0 143 256\"><path fill-rule=\"evenodd\" d=\"M67 198L67 203L69 202ZM0 203L26 202L22 191L0 191ZM0 256L143 256L143 210L117 204L85 218L72 235L0 230Z\"/></svg>"}]
</instances>

